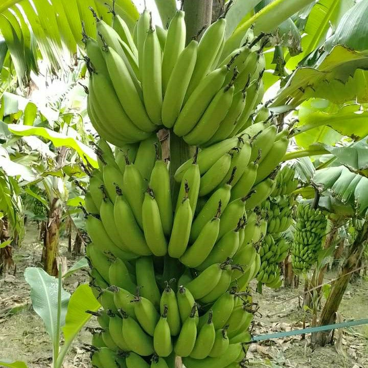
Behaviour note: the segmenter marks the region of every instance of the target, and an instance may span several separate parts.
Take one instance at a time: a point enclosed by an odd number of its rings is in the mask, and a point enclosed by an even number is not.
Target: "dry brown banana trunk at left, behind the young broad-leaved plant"
[[[53,276],[58,274],[56,257],[59,253],[60,225],[61,201],[58,198],[54,198],[50,205],[48,221],[45,224],[41,259],[43,269]]]

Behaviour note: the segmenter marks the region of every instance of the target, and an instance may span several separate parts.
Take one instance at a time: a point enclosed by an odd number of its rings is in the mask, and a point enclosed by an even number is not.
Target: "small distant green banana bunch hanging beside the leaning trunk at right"
[[[296,211],[291,261],[295,273],[307,272],[317,261],[326,234],[327,218],[310,204],[300,203]]]

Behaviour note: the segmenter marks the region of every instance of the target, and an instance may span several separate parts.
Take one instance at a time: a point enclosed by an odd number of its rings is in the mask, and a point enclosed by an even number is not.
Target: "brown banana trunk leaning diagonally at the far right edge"
[[[368,221],[365,221],[362,229],[359,231],[354,243],[349,249],[349,255],[344,262],[337,280],[332,284],[332,290],[327,298],[327,302],[319,318],[319,326],[325,326],[335,323],[336,312],[340,306],[342,297],[349,284],[353,271],[362,256],[366,237],[368,235]],[[331,339],[331,332],[318,332],[312,334],[312,342],[320,346],[325,346]]]

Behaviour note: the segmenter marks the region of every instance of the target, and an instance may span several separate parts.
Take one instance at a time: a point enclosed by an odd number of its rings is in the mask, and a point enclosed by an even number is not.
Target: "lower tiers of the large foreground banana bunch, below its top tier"
[[[275,185],[271,172],[256,185],[262,191],[250,184],[232,198],[234,181],[258,165],[248,163],[250,140],[197,151],[175,175],[176,203],[155,134],[115,153],[100,140],[100,169],[91,171],[85,196],[90,285],[103,306],[102,330],[93,338],[96,366],[105,367],[99,359],[107,356],[128,368],[166,366],[173,354],[188,368],[211,366],[220,356],[228,364],[244,358],[240,342],[253,314],[243,294],[261,267],[254,244],[267,231],[254,206]]]

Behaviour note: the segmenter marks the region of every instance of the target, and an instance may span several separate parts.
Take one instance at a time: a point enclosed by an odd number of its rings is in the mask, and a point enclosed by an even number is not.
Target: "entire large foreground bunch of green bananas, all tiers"
[[[287,131],[249,119],[263,96],[263,37],[250,29],[228,50],[220,18],[185,47],[182,11],[168,31],[144,11],[133,35],[118,15],[112,26],[95,18],[96,40],[84,36],[88,114],[102,138],[99,169],[86,168],[90,286],[103,307],[93,364],[171,368],[180,356],[187,368],[238,366],[255,312],[246,290],[262,264],[255,244],[267,232],[255,209],[288,146]],[[175,182],[163,127],[196,146]]]

